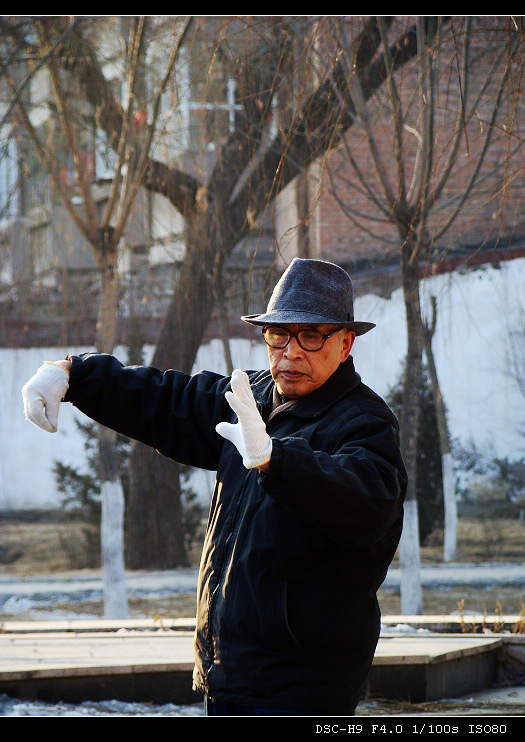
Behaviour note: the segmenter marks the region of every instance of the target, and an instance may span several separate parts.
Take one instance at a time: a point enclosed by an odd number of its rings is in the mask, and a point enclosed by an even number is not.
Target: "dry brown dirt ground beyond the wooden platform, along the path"
[[[421,548],[423,564],[442,561],[440,534]],[[525,523],[518,520],[461,519],[458,526],[457,562],[523,562],[525,563]],[[48,516],[34,522],[0,520],[0,573],[11,576],[34,576],[97,568],[98,536],[85,524],[63,521]],[[200,547],[192,553],[197,566]],[[395,560],[394,564],[397,562]],[[195,613],[194,595],[169,598],[130,600],[131,617],[160,615],[170,618],[189,617]],[[400,613],[400,596],[396,590],[381,588],[379,603],[384,615]],[[451,589],[423,591],[423,612],[433,615],[475,612],[477,614],[523,614],[525,588],[505,585],[473,588],[469,585]],[[69,610],[83,615],[100,616],[100,602],[57,606],[54,611]],[[0,609],[0,619],[21,619]],[[29,617],[29,616],[28,616]]]

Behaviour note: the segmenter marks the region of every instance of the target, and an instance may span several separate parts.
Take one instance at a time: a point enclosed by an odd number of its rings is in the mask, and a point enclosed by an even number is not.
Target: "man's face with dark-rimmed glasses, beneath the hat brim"
[[[328,334],[336,325],[282,325],[285,329],[298,332],[302,329],[315,329]],[[297,338],[291,337],[286,348],[280,350],[268,346],[270,371],[280,394],[290,399],[299,399],[319,389],[346,361],[355,333],[341,330],[325,341],[321,350],[303,350]]]

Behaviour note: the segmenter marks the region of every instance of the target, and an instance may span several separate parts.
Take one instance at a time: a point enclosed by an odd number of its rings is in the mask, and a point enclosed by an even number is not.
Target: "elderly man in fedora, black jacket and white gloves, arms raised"
[[[397,421],[365,386],[339,266],[295,259],[262,328],[269,371],[231,378],[44,363],[26,416],[61,400],[176,461],[217,472],[198,584],[194,688],[209,715],[353,714],[380,630],[377,590],[402,528]]]

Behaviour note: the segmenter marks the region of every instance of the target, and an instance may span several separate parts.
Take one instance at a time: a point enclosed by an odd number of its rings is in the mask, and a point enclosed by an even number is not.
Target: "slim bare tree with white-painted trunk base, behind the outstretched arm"
[[[145,56],[147,19],[132,18],[129,23],[129,38],[123,39],[127,47],[124,65],[127,98],[122,108],[122,126],[119,129],[118,141],[115,142],[114,173],[101,208],[81,156],[81,138],[86,122],[78,104],[78,97],[75,95],[78,91],[75,90],[75,81],[62,74],[59,63],[65,53],[63,45],[74,32],[75,26],[76,21],[73,21],[68,31],[62,34],[58,41],[56,39],[52,41],[49,24],[37,20],[33,26],[36,37],[31,54],[33,59],[38,60],[38,67],[48,71],[56,118],[67,153],[73,162],[74,180],[78,186],[80,199],[73,199],[76,191],[72,191],[61,180],[56,153],[46,146],[32,123],[27,99],[21,94],[22,89],[29,85],[28,78],[21,80],[17,85],[9,64],[4,66],[3,72],[4,79],[11,89],[16,115],[23,124],[41,165],[48,172],[53,187],[60,195],[61,203],[73,224],[91,246],[101,281],[96,347],[100,352],[111,353],[117,337],[118,258],[123,236],[148,165],[160,101],[173,74],[182,36],[174,39],[163,79],[155,91],[151,121],[144,130],[142,127],[134,127],[133,120],[137,111],[137,101],[140,99],[140,67]],[[8,30],[18,39],[20,32],[25,31],[18,24],[13,24]],[[116,434],[104,426],[98,426],[98,451],[102,491],[101,549],[105,614],[109,618],[122,618],[127,615],[123,556],[124,495],[118,474]]]

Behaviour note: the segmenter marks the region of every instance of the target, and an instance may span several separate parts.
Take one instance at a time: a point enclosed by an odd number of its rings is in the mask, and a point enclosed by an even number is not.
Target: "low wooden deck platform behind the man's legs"
[[[392,625],[401,621],[392,617]],[[382,635],[368,692],[420,702],[482,690],[506,636]],[[193,622],[184,619],[7,622],[0,626],[0,693],[50,702],[196,703],[192,645]]]

